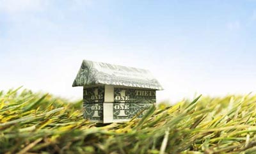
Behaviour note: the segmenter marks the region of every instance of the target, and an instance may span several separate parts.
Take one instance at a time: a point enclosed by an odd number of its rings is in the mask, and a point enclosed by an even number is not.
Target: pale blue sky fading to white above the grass
[[[256,90],[256,1],[0,0],[0,89],[81,98],[83,59],[150,70],[158,100]]]

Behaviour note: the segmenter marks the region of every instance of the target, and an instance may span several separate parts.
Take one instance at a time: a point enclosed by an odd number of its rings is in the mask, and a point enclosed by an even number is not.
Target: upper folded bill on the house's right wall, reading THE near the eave
[[[154,104],[156,103],[156,90],[115,88],[114,102],[115,103]]]

